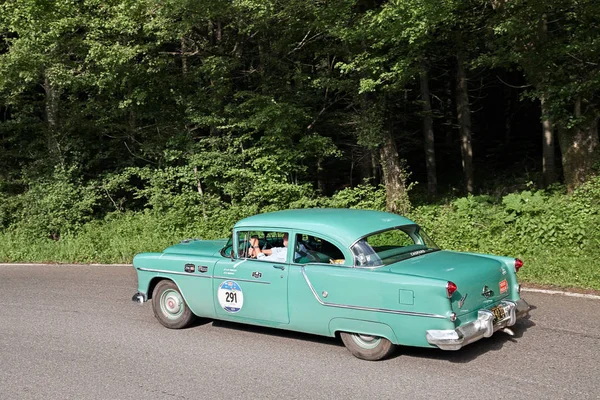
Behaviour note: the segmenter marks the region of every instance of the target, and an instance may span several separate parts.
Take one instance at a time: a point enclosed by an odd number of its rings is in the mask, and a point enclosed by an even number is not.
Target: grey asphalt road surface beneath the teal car
[[[527,293],[515,336],[361,361],[335,339],[163,328],[132,267],[0,266],[0,399],[600,399],[600,301]]]

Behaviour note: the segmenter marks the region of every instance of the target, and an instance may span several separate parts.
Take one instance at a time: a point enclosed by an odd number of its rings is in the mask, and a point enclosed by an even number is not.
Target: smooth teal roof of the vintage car
[[[414,225],[408,218],[374,210],[347,208],[303,208],[275,211],[244,218],[235,224],[240,228],[296,229],[322,233],[350,246],[369,233],[396,226]]]

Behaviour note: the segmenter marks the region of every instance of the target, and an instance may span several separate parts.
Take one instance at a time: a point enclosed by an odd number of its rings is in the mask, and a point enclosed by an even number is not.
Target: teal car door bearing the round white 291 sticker
[[[240,253],[239,248],[235,251]],[[217,316],[230,320],[289,323],[289,260],[289,249],[284,262],[268,257],[219,260],[213,277]]]

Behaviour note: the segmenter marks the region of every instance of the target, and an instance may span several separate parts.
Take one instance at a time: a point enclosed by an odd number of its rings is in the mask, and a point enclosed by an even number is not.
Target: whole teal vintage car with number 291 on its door
[[[461,347],[527,315],[515,258],[440,250],[385,212],[301,209],[239,221],[232,237],[184,240],[133,265],[167,328],[195,317],[339,335],[356,357],[396,345]]]

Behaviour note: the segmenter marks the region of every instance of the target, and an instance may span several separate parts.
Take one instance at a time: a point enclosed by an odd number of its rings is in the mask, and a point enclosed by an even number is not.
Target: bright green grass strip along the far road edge
[[[201,230],[201,229],[200,229]],[[438,232],[440,235],[441,232]],[[0,233],[0,261],[52,263],[131,263],[141,252],[162,251],[181,239],[195,237],[188,229],[173,229],[158,216],[147,213],[128,214],[109,221],[95,221],[76,235],[60,240],[29,237],[24,232]],[[210,237],[206,237],[210,238]],[[495,253],[523,259],[519,272],[521,282],[555,287],[577,287],[600,290],[600,254],[566,248],[529,247],[502,249],[502,240],[488,237],[479,248],[469,241],[467,246],[445,243],[442,248]],[[493,243],[494,246],[486,245]],[[490,251],[495,247],[495,251]],[[518,247],[518,246],[517,246]]]

